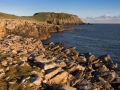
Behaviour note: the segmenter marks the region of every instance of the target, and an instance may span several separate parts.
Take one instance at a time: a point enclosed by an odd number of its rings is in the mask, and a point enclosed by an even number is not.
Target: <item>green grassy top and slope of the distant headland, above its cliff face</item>
[[[32,20],[32,21],[39,21],[45,22],[48,19],[80,19],[77,15],[67,14],[67,13],[55,13],[55,12],[39,12],[35,13],[33,16],[16,16],[12,14],[6,14],[0,12],[0,18],[2,19],[22,19],[22,20]],[[82,20],[80,19],[82,22]]]

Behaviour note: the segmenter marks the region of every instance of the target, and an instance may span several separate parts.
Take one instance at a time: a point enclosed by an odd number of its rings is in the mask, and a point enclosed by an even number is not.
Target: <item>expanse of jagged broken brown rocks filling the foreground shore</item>
[[[0,90],[5,89],[119,90],[120,69],[109,55],[8,35],[0,39]]]

